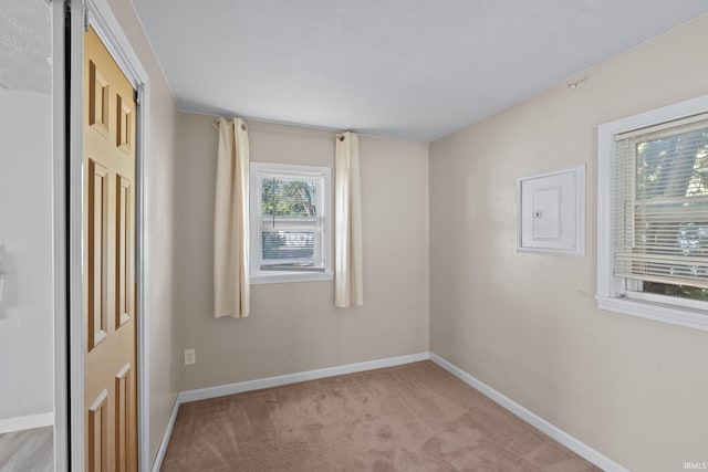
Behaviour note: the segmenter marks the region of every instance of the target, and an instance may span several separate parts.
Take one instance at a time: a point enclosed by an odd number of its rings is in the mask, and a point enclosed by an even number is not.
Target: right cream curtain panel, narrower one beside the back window
[[[364,304],[358,136],[336,136],[334,162],[334,305]]]

